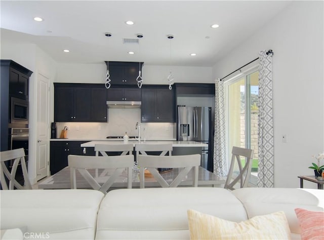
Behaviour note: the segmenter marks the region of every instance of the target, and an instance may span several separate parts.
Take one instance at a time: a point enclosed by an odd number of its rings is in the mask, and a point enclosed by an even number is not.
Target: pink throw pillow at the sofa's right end
[[[295,209],[302,240],[324,240],[324,212]]]

